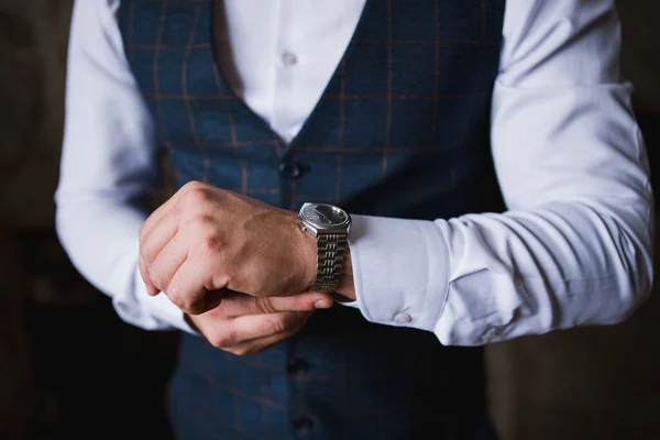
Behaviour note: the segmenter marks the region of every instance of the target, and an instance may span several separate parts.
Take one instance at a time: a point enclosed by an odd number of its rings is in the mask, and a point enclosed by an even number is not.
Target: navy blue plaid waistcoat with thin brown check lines
[[[504,0],[369,0],[300,133],[285,144],[215,63],[212,0],[123,0],[128,59],[176,187],[208,182],[284,208],[449,218],[497,210],[490,109]],[[179,438],[491,438],[482,352],[317,312],[239,358],[183,336],[170,387]]]

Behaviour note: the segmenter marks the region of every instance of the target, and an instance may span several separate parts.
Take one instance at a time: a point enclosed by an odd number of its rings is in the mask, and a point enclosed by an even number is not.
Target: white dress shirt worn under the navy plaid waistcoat
[[[378,0],[372,0],[378,1]],[[154,189],[152,120],[124,56],[119,0],[75,2],[57,231],[128,322],[191,331],[146,295],[133,200]],[[508,0],[492,109],[509,209],[416,221],[354,216],[359,307],[443,344],[475,345],[626,318],[652,279],[646,153],[619,76],[613,0]],[[231,78],[283,139],[309,117],[364,0],[226,0]],[[314,200],[310,200],[314,201]]]

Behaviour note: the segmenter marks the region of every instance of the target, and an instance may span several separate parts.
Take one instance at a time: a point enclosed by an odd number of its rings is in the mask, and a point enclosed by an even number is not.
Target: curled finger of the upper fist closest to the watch
[[[205,307],[205,295],[210,290],[211,268],[207,264],[186,258],[172,276],[165,295],[182,311],[188,315],[200,315],[209,310]],[[216,286],[222,287],[222,286]]]

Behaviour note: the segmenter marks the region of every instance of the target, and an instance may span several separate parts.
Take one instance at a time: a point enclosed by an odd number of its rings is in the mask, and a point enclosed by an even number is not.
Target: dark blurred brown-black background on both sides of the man
[[[175,334],[122,323],[54,232],[70,9],[0,0],[0,439],[165,440]],[[660,1],[622,0],[619,12],[622,64],[654,160]],[[502,438],[660,439],[659,296],[620,326],[488,346]]]

